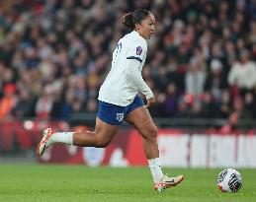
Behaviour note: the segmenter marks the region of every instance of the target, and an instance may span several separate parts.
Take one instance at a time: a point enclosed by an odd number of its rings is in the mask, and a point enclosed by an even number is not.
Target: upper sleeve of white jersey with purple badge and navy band
[[[134,41],[128,47],[127,59],[135,59],[141,63],[146,51],[147,46],[143,41]]]

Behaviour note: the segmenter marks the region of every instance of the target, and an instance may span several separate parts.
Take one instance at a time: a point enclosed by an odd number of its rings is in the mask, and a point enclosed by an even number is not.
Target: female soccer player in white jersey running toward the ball
[[[54,143],[82,147],[106,147],[126,120],[142,136],[143,148],[154,181],[154,189],[162,191],[176,186],[183,175],[164,175],[159,160],[157,128],[147,110],[155,102],[150,88],[143,81],[141,70],[145,62],[147,43],[155,31],[155,18],[146,10],[136,10],[123,17],[123,24],[132,32],[120,39],[113,52],[112,68],[99,92],[99,109],[94,132],[53,132],[43,130],[38,155]],[[147,104],[137,95],[141,92]]]

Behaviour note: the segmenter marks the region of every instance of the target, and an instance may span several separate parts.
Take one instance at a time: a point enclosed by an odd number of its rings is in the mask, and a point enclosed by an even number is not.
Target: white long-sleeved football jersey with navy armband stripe
[[[99,101],[127,106],[133,101],[138,91],[144,94],[147,99],[153,97],[151,90],[141,77],[146,52],[146,40],[135,31],[126,34],[119,40],[113,52],[111,71],[99,92]],[[131,60],[135,63],[131,63]],[[133,71],[136,75],[130,73],[132,79],[129,79],[128,74],[134,68],[133,64],[137,66],[137,69]],[[136,78],[135,82],[132,82],[133,78]]]

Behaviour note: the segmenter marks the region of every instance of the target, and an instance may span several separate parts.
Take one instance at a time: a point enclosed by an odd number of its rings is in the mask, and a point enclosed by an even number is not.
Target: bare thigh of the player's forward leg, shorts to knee
[[[130,111],[126,117],[126,121],[130,123],[145,139],[155,138],[157,128],[151,118],[149,111],[140,106]]]

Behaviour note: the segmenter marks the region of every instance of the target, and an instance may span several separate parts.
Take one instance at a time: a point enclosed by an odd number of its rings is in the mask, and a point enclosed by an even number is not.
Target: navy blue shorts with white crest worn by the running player
[[[127,106],[119,106],[104,101],[99,101],[99,109],[97,116],[104,122],[111,125],[122,125],[128,112],[137,107],[144,105],[143,101],[138,95]]]

